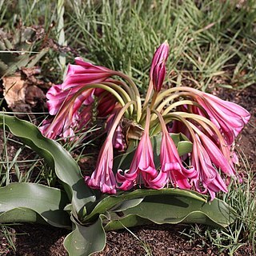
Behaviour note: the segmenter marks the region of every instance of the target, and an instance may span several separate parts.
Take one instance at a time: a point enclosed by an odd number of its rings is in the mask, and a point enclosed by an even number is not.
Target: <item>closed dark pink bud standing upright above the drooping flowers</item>
[[[166,76],[166,60],[169,54],[169,45],[163,42],[154,53],[150,68],[150,80],[153,82],[154,90],[160,91]]]

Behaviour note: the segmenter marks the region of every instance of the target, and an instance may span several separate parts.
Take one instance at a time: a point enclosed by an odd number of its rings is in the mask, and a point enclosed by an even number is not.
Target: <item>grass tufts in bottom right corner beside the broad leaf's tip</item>
[[[246,159],[243,157],[243,159]],[[246,246],[250,252],[256,254],[256,198],[252,190],[255,182],[254,171],[246,160],[243,160],[241,173],[243,181],[233,180],[230,183],[230,190],[222,195],[222,199],[236,210],[237,218],[226,230],[216,230],[206,226],[190,226],[182,234],[190,238],[191,242],[198,239],[201,246],[217,248],[218,253],[236,255],[236,252]]]

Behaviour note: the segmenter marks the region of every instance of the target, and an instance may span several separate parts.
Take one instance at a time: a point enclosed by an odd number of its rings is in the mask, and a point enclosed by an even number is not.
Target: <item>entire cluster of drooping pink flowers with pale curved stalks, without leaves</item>
[[[235,176],[234,139],[249,122],[250,114],[232,102],[187,86],[162,90],[169,45],[154,54],[146,98],[134,81],[122,72],[94,66],[81,58],[70,65],[62,85],[50,88],[46,97],[50,115],[41,127],[48,138],[75,138],[86,130],[97,109],[105,119],[106,140],[98,154],[88,186],[103,193],[130,190],[134,186],[161,189],[174,186],[210,194],[227,191],[228,177]],[[97,104],[95,104],[97,102]],[[143,103],[143,104],[142,104]],[[159,166],[150,137],[161,134]],[[190,152],[180,156],[171,134],[184,134]],[[114,153],[138,142],[128,170],[113,170]]]

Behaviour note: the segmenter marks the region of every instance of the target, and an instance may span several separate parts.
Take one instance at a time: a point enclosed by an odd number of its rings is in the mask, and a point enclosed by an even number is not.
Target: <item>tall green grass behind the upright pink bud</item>
[[[70,6],[74,13],[66,23],[66,34],[71,35],[67,36],[68,45],[93,62],[132,73],[142,92],[151,53],[164,40],[170,44],[170,82],[188,80],[202,90],[208,90],[219,76],[226,77],[232,86],[253,82],[247,60],[248,54],[250,62],[255,57],[251,53],[255,43],[254,1],[240,7],[230,1],[191,0],[181,4],[168,0],[70,1]],[[243,83],[239,70],[246,73]],[[221,86],[226,84],[224,80]]]

